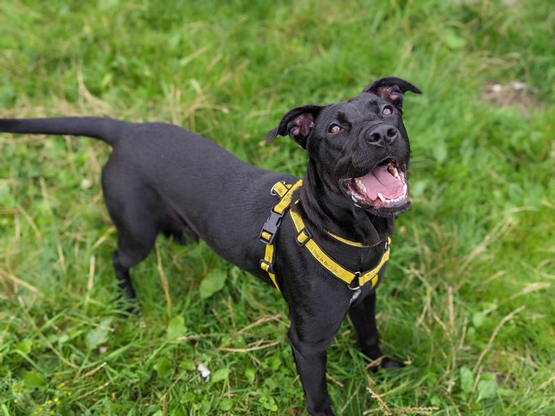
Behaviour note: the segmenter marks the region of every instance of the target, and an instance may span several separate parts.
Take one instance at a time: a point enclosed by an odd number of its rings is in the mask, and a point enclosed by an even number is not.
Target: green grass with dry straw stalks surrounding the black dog
[[[284,112],[407,78],[424,92],[404,114],[413,205],[378,309],[384,352],[410,364],[368,374],[345,322],[334,409],[553,415],[553,21],[541,0],[2,1],[0,116],[169,121],[302,175],[291,140],[262,144]],[[484,98],[513,81],[531,90]],[[305,413],[276,291],[204,243],[161,238],[133,270],[142,313],[122,317],[99,187],[109,148],[1,135],[0,150],[0,415]]]

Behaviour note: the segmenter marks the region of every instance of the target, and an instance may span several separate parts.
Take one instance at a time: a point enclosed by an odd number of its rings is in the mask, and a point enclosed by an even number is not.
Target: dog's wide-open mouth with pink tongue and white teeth
[[[410,203],[407,175],[394,159],[385,159],[366,175],[347,179],[344,184],[360,207],[398,211]]]

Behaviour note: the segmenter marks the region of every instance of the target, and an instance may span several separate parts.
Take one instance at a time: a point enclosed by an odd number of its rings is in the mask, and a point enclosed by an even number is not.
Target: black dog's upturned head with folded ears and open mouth
[[[421,94],[407,81],[388,77],[349,101],[294,108],[266,140],[289,135],[332,190],[377,216],[396,216],[410,205],[410,148],[402,121],[407,91]]]

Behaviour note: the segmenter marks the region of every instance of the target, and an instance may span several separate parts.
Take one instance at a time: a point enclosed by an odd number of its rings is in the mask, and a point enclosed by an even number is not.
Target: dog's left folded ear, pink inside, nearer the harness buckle
[[[303,149],[306,148],[307,137],[314,128],[316,118],[323,108],[322,105],[303,105],[289,110],[282,117],[280,125],[268,132],[266,143],[270,143],[278,135],[289,135]]]

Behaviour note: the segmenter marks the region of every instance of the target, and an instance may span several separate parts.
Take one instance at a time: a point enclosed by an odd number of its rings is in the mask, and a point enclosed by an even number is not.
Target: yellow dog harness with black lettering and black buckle
[[[270,216],[268,217],[268,220],[266,220],[266,223],[264,223],[264,225],[262,226],[262,231],[260,232],[259,239],[260,241],[262,241],[262,243],[266,244],[264,259],[260,259],[260,268],[268,273],[271,281],[273,281],[273,284],[276,288],[278,288],[279,291],[280,287],[278,286],[278,282],[275,280],[275,270],[273,268],[275,262],[274,242],[276,236],[278,235],[278,229],[280,227],[281,220],[289,210],[289,215],[291,216],[291,220],[293,220],[293,225],[295,225],[295,229],[298,233],[296,237],[296,243],[298,245],[307,248],[312,257],[314,257],[314,259],[316,259],[318,263],[320,263],[324,268],[332,273],[332,275],[345,281],[350,289],[356,290],[361,286],[364,286],[368,282],[370,282],[370,287],[374,288],[379,281],[379,270],[382,269],[386,261],[389,259],[389,244],[391,243],[391,239],[387,239],[382,259],[379,260],[379,263],[377,264],[377,266],[375,266],[375,268],[372,268],[366,272],[352,272],[344,268],[343,266],[341,266],[341,264],[337,263],[334,259],[327,255],[324,250],[320,248],[318,243],[314,241],[314,239],[312,238],[312,234],[306,229],[302,217],[292,209],[289,209],[289,207],[291,207],[293,192],[296,191],[296,189],[298,189],[301,185],[302,180],[298,180],[298,182],[293,185],[285,184],[284,182],[278,182],[271,189],[271,194],[279,196],[280,202],[278,202],[278,204],[270,210]],[[355,247],[368,247],[361,243],[357,243],[356,241],[343,239],[342,237],[336,236],[335,234],[332,234],[330,232],[327,232],[327,234],[332,236],[337,241],[341,241],[341,243],[345,243]],[[357,280],[355,281],[355,279]],[[355,284],[357,284],[357,286],[351,286],[353,281],[355,281]]]

